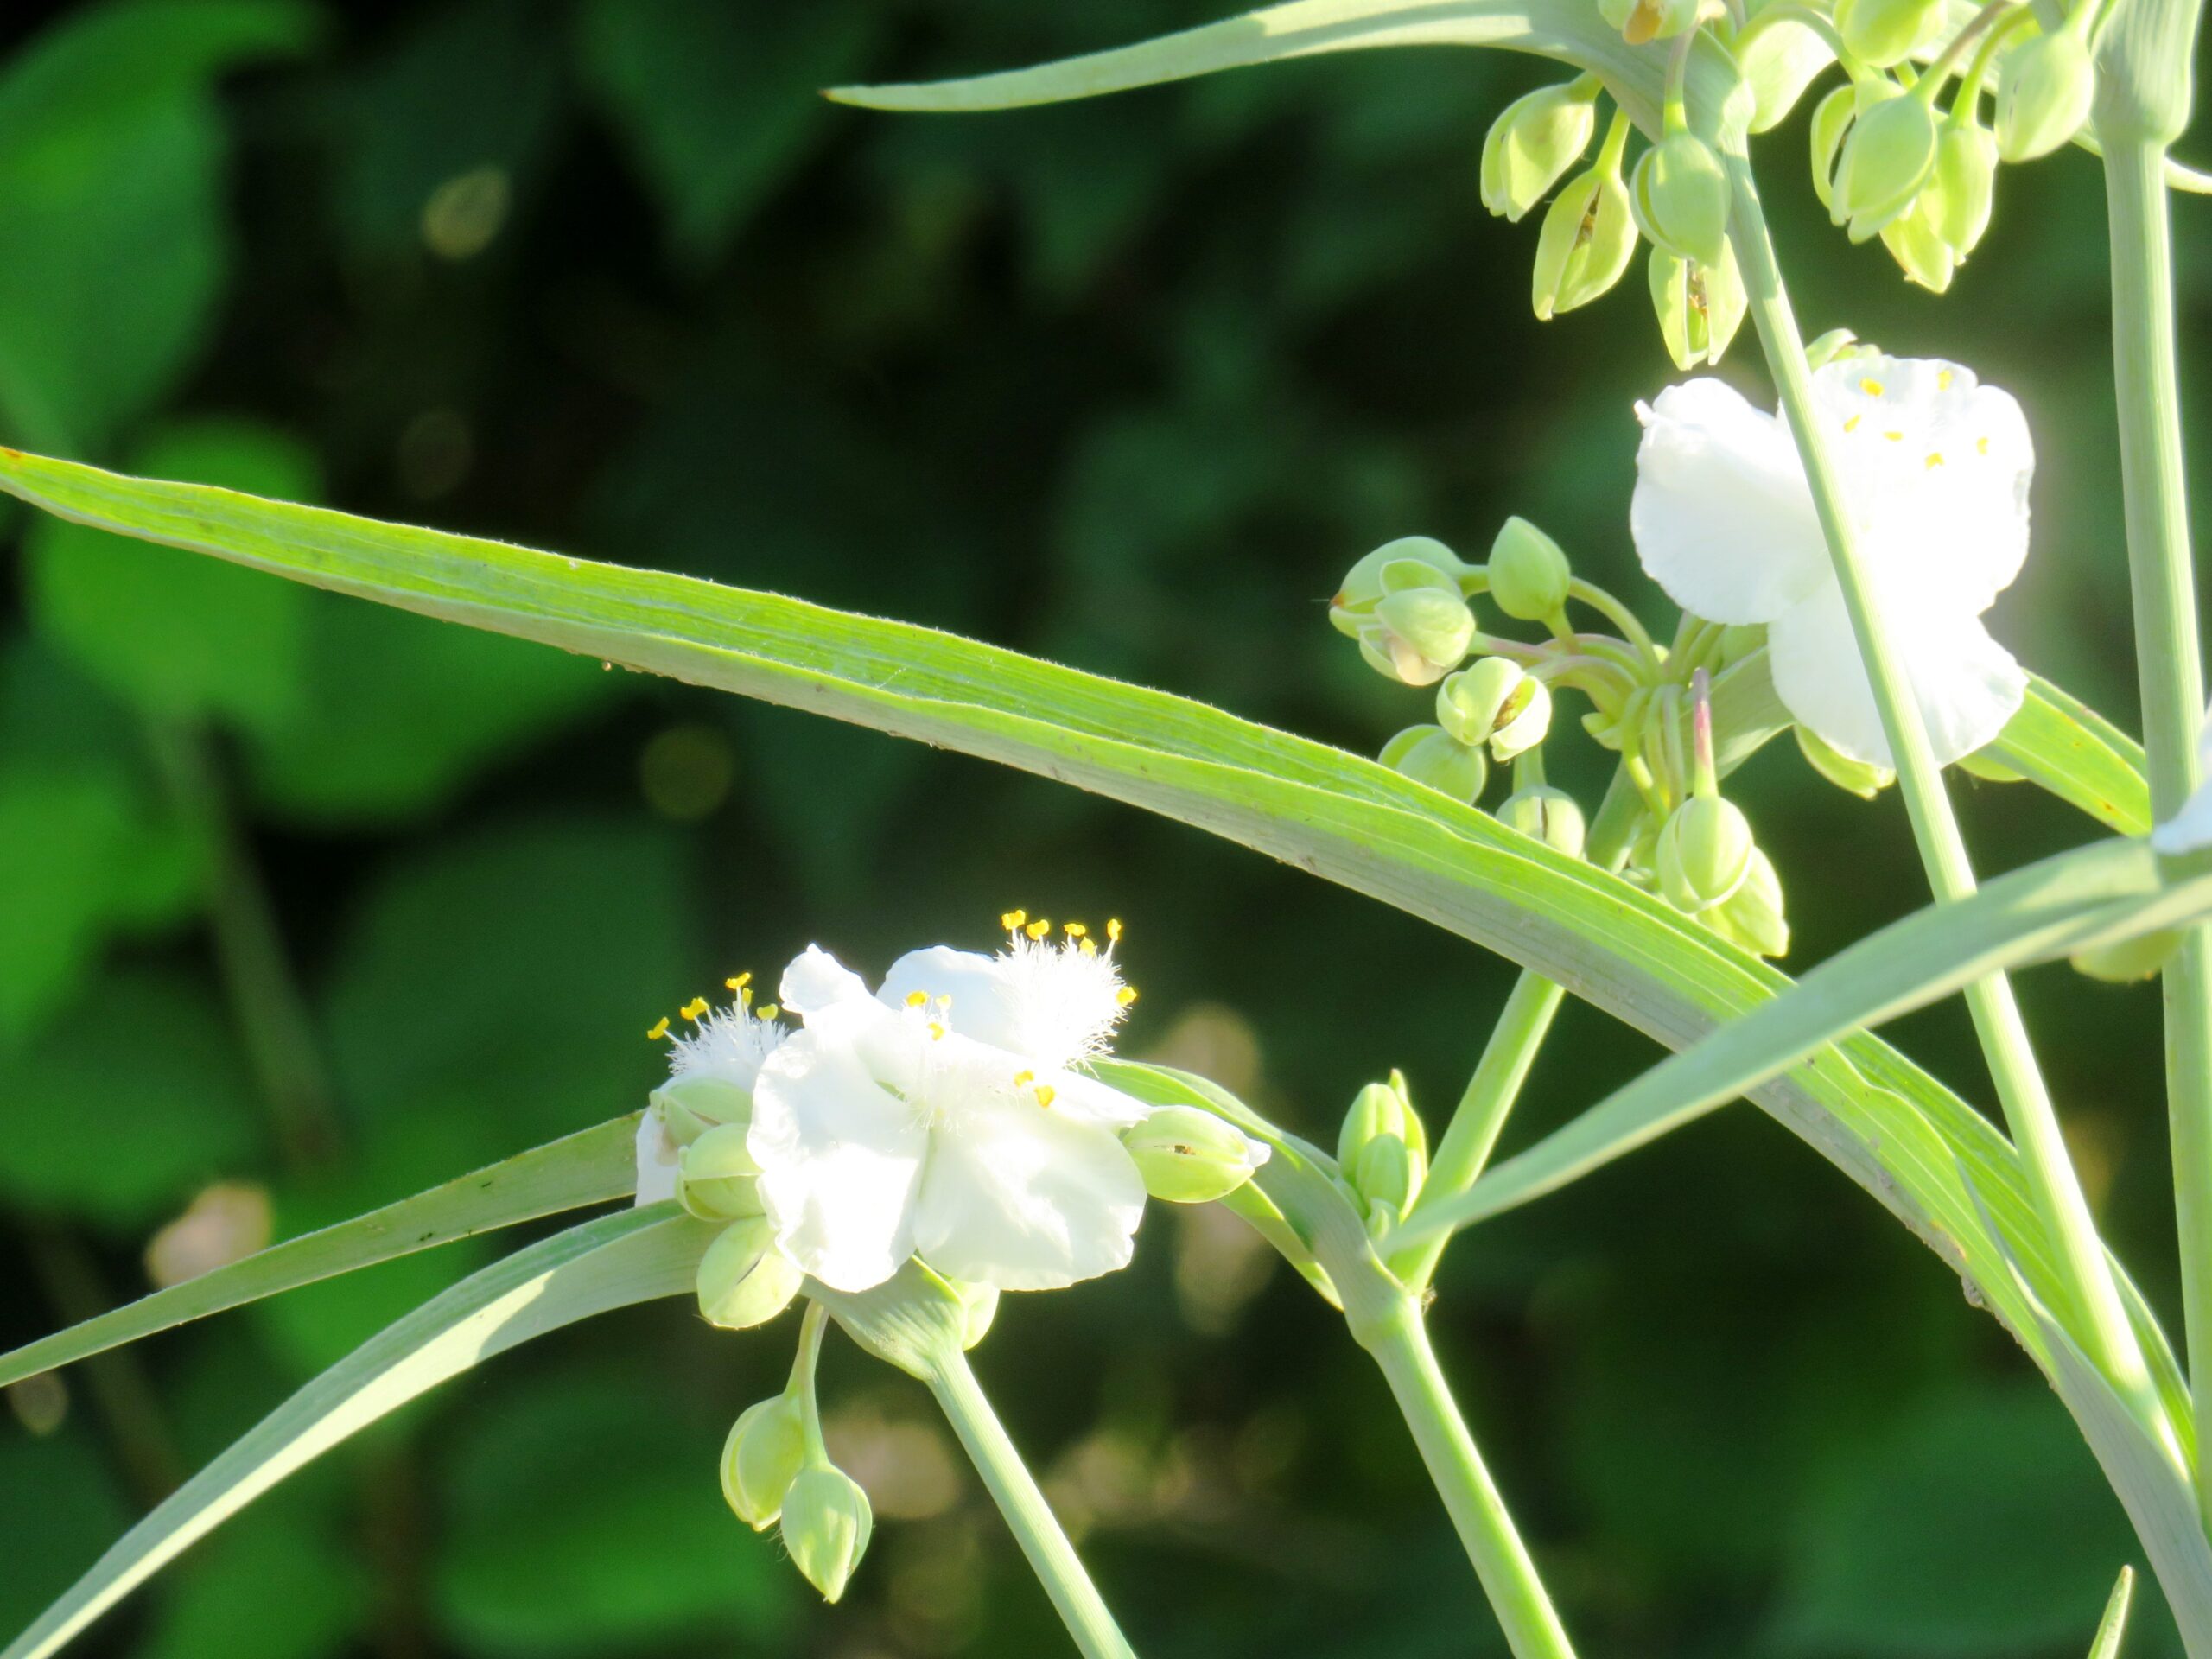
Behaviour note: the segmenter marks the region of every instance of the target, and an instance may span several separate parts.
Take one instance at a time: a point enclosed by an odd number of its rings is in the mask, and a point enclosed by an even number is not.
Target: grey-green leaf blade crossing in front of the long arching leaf
[[[1413,1243],[1588,1175],[1725,1106],[1854,1026],[1876,1026],[2024,962],[2084,942],[2172,927],[2212,909],[2212,874],[2166,885],[2157,854],[2108,841],[2000,876],[1971,898],[1927,905],[1832,956],[1790,991],[1615,1091],[1566,1128],[1416,1208]]]

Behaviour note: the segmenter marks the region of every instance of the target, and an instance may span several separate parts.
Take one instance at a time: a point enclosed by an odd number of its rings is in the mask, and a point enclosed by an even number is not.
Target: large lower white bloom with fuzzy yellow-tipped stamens
[[[805,1029],[761,1066],[748,1150],[779,1248],[825,1285],[916,1254],[1000,1290],[1128,1263],[1144,1181],[1119,1130],[1148,1108],[1079,1066],[1133,993],[1110,947],[1024,920],[998,956],[911,951],[876,995],[821,949],[785,969]]]

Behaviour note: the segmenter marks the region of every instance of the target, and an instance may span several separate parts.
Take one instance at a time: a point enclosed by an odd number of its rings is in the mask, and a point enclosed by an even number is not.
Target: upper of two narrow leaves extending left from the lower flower
[[[316,1279],[431,1250],[542,1214],[580,1210],[628,1194],[635,1186],[637,1113],[566,1135],[551,1146],[493,1164],[489,1170],[387,1203],[334,1228],[288,1239],[243,1261],[215,1267],[181,1285],[71,1325],[13,1354],[0,1354],[0,1387],[73,1365],[122,1343],[166,1332],[228,1307],[276,1296]]]

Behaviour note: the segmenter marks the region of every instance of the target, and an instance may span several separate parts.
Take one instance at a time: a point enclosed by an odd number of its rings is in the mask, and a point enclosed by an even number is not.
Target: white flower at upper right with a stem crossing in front
[[[2028,422],[1969,369],[1874,354],[1818,369],[1812,405],[1936,761],[1971,754],[2026,695],[1980,615],[2028,553]],[[1628,522],[1644,568],[1708,622],[1767,624],[1792,717],[1856,761],[1893,765],[1787,422],[1710,378],[1637,416]]]

